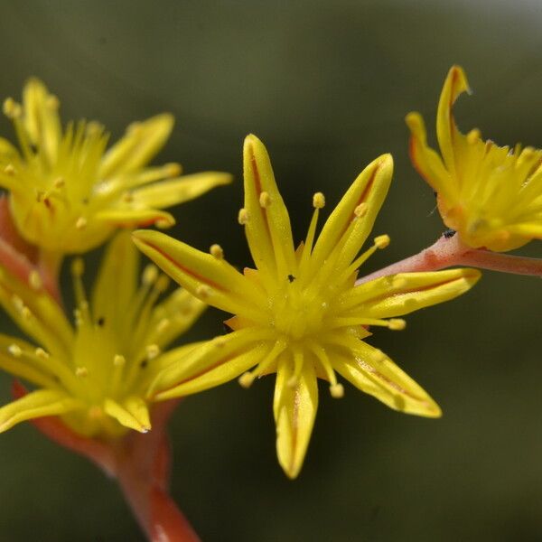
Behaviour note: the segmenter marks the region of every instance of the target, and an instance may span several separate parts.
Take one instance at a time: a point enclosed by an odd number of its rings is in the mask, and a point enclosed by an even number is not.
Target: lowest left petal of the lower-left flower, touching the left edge
[[[59,416],[80,407],[60,389],[38,389],[0,408],[0,433],[35,417]]]

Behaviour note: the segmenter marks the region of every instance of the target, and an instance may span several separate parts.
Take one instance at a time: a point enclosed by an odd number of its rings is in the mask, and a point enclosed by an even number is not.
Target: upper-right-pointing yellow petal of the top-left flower
[[[172,129],[173,116],[167,113],[128,126],[126,135],[107,151],[98,176],[107,179],[148,164],[164,146]]]

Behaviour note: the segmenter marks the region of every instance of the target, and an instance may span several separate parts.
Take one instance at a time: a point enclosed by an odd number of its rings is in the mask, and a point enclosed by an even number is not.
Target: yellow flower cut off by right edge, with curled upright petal
[[[501,252],[542,238],[542,151],[483,141],[477,128],[463,135],[452,107],[465,91],[470,89],[463,69],[453,66],[436,114],[442,159],[427,146],[422,117],[406,116],[412,162],[437,193],[446,226],[469,247]]]

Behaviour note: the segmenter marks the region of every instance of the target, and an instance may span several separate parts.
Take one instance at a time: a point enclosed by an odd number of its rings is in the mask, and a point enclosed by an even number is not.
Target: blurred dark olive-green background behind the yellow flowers
[[[539,0],[208,2],[4,0],[0,97],[36,75],[69,118],[98,118],[115,137],[172,111],[156,163],[229,171],[236,182],[174,210],[174,234],[219,242],[249,263],[237,211],[241,145],[266,143],[297,238],[313,192],[329,207],[383,152],[396,159],[375,229],[391,246],[374,270],[431,243],[435,199],[406,154],[403,117],[434,126],[453,63],[472,98],[466,130],[542,146]],[[13,136],[0,121],[2,135]],[[542,256],[540,243],[523,254]],[[97,255],[95,255],[97,257]],[[206,541],[500,541],[542,539],[540,280],[486,273],[463,298],[408,317],[373,344],[427,388],[441,420],[403,416],[354,388],[322,387],[304,470],[276,464],[274,378],[191,397],[173,418],[173,496]],[[69,287],[69,284],[66,284]],[[222,331],[209,311],[189,339]],[[6,332],[13,328],[3,323]],[[9,399],[9,378],[0,381]],[[0,436],[0,540],[142,540],[117,486],[22,425]]]

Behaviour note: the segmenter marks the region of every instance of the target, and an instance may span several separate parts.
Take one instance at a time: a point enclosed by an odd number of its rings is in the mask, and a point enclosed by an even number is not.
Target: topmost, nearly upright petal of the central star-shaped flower
[[[290,217],[276,187],[269,154],[256,135],[245,138],[243,164],[250,253],[258,269],[287,276],[295,269]]]

